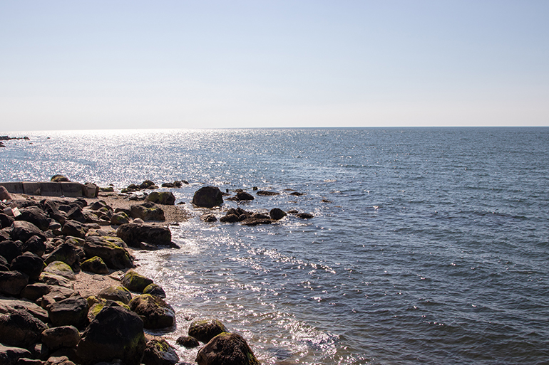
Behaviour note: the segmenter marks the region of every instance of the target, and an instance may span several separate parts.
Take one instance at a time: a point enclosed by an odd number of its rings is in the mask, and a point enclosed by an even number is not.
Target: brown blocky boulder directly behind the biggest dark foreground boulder
[[[70,297],[48,305],[48,316],[55,327],[74,326],[83,328],[88,324],[88,302],[83,297]]]

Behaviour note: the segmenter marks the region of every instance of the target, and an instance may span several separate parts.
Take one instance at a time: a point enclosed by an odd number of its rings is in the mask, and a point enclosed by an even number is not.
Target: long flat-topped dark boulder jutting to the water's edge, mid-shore
[[[137,223],[123,224],[116,230],[116,236],[131,247],[139,248],[142,242],[151,245],[171,245],[170,228],[146,226]]]

